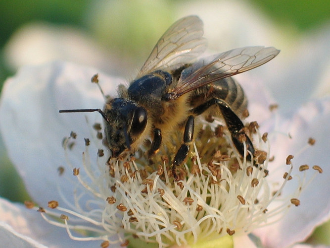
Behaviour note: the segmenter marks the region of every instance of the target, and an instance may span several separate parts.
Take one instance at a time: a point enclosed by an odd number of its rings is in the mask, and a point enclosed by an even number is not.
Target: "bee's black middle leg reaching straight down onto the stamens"
[[[186,159],[189,151],[189,143],[192,141],[193,138],[193,129],[194,129],[194,117],[189,116],[187,119],[185,132],[184,132],[184,143],[180,146],[177,154],[174,157],[172,163],[172,175],[175,182],[179,181],[178,175],[175,171],[176,167],[181,165],[184,160]]]

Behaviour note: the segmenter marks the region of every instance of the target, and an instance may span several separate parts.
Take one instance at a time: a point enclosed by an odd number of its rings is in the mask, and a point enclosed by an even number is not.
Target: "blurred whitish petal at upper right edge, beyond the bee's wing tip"
[[[278,47],[281,53],[273,60],[272,70],[262,76],[282,113],[292,113],[313,97],[330,93],[326,77],[330,66],[329,37],[330,28],[325,26],[297,37],[291,47]]]

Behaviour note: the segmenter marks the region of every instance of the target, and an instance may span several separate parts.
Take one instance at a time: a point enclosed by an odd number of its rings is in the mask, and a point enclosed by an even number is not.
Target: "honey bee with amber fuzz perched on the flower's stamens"
[[[171,133],[182,130],[183,142],[172,161],[172,176],[178,181],[176,167],[189,152],[195,119],[222,117],[234,145],[247,158],[253,144],[244,132],[243,112],[247,99],[241,86],[231,77],[253,69],[280,52],[273,47],[244,47],[197,60],[206,49],[203,23],[197,16],[176,21],[159,39],[130,86],[118,87],[118,97],[108,98],[101,109],[60,110],[99,112],[112,157],[124,151],[135,152],[151,139],[148,155],[160,149]]]

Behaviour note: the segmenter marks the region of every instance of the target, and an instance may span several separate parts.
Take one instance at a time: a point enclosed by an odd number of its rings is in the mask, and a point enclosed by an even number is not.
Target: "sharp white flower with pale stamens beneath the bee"
[[[224,166],[219,167],[221,168],[221,179],[229,184],[227,186],[225,184],[225,188],[221,184],[220,187],[217,184],[211,184],[208,189],[203,189],[208,185],[201,183],[203,180],[217,180],[217,177],[203,177],[199,174],[199,176],[189,175],[181,189],[178,185],[171,183],[171,179],[166,177],[167,174],[162,174],[163,178],[161,178],[157,175],[157,171],[150,172],[151,175],[148,174],[149,180],[145,180],[141,173],[136,173],[134,179],[131,179],[132,173],[136,170],[134,167],[139,166],[139,161],[136,162],[137,165],[130,164],[132,172],[127,166],[125,171],[122,162],[113,164],[110,161],[111,166],[114,167],[110,167],[109,174],[106,155],[97,156],[97,149],[102,148],[102,145],[101,140],[95,137],[96,131],[92,128],[94,123],[102,123],[100,115],[96,113],[88,113],[88,115],[58,113],[58,110],[63,108],[99,108],[103,105],[97,87],[89,82],[91,75],[95,73],[97,73],[95,69],[61,62],[39,67],[26,67],[6,82],[0,106],[2,136],[9,156],[22,175],[31,196],[45,208],[47,214],[54,214],[58,217],[63,214],[62,219],[69,216],[67,223],[72,235],[79,236],[79,239],[90,240],[80,242],[79,246],[84,243],[91,245],[95,242],[94,236],[100,240],[108,240],[110,244],[112,242],[117,245],[124,244],[125,237],[129,234],[149,241],[162,242],[164,246],[168,244],[192,245],[194,242],[214,239],[217,236],[216,232],[224,235],[233,234],[232,232],[235,231],[236,233],[232,237],[235,246],[239,247],[240,240],[246,240],[246,233],[263,225],[267,225],[267,227],[263,227],[255,235],[261,239],[264,245],[268,246],[267,238],[272,239],[272,235],[276,234],[272,227],[282,226],[282,229],[285,230],[290,226],[289,224],[296,223],[296,218],[301,212],[308,212],[310,215],[306,216],[304,224],[298,223],[299,225],[294,227],[296,230],[309,225],[308,232],[310,232],[316,224],[328,218],[329,191],[327,191],[325,180],[327,173],[317,175],[317,180],[312,181],[311,185],[305,189],[306,182],[309,182],[310,177],[315,176],[315,173],[311,171],[299,173],[296,170],[303,163],[309,163],[311,166],[314,165],[312,164],[314,162],[323,163],[322,160],[313,156],[313,150],[321,152],[322,149],[327,149],[323,148],[323,146],[327,146],[326,129],[321,125],[315,130],[314,119],[318,119],[319,124],[326,124],[329,121],[329,99],[310,103],[287,123],[281,117],[277,117],[280,125],[273,133],[270,133],[271,151],[268,153],[270,156],[275,156],[275,161],[270,162],[269,165],[263,165],[263,169],[268,166],[269,176],[264,177],[265,172],[253,170],[253,177],[249,178],[246,175],[248,163],[240,164],[243,170],[232,173],[226,169],[228,163],[222,161]],[[103,90],[112,94],[116,85],[122,83],[120,79],[109,78],[103,74],[99,74],[99,78],[102,87],[104,86]],[[306,111],[308,115],[304,113]],[[253,112],[253,109],[250,112]],[[305,126],[301,126],[302,121]],[[292,140],[286,134],[278,133],[279,129],[289,131]],[[72,134],[70,138],[62,140],[62,137],[68,136],[71,131],[74,131],[77,137],[74,139]],[[314,146],[307,144],[310,135],[316,139]],[[89,146],[85,145],[84,138],[90,138]],[[64,150],[60,145],[61,142],[64,144]],[[267,151],[267,143],[259,138],[255,138],[255,142],[256,147]],[[308,147],[308,149],[303,150],[304,147]],[[299,154],[300,150],[301,154]],[[84,152],[83,155],[82,152]],[[201,151],[198,152],[201,153]],[[283,171],[290,171],[290,166],[285,165],[285,158],[291,152],[295,156],[292,159],[293,180],[285,184],[281,197],[271,200],[273,189],[279,189],[284,182]],[[106,154],[106,150],[104,153]],[[324,151],[323,154],[326,152]],[[321,155],[322,153],[318,157]],[[235,157],[235,153],[232,156]],[[202,166],[204,172],[210,173],[210,167],[199,163],[197,165],[199,169]],[[63,168],[64,172],[60,173],[59,168]],[[78,176],[72,175],[71,170],[74,168],[80,168]],[[191,168],[184,167],[184,170],[189,172]],[[226,177],[228,178],[226,179]],[[259,183],[258,185],[251,185],[253,178],[258,179],[255,181]],[[221,182],[219,178],[218,180]],[[325,182],[322,182],[323,180]],[[279,182],[280,185],[272,185],[273,181]],[[114,185],[116,189],[111,187]],[[150,188],[145,190],[147,185]],[[304,189],[301,196],[300,187]],[[198,190],[196,190],[197,188]],[[310,192],[307,195],[308,191]],[[180,195],[179,192],[182,194]],[[238,199],[237,195],[242,198]],[[251,202],[251,199],[255,200],[257,197],[259,203]],[[313,202],[323,201],[323,203],[313,204],[311,202],[308,204],[305,199],[310,197],[313,197]],[[290,203],[291,198],[298,198],[301,202],[300,206],[294,207]],[[114,200],[116,203],[113,202]],[[58,203],[58,207],[47,208],[46,205],[49,201],[56,201],[49,204]],[[244,201],[246,203],[242,204]],[[269,206],[267,202],[270,203]],[[289,205],[293,207],[287,208],[286,206]],[[308,211],[306,207],[308,207]],[[244,211],[247,208],[249,210]],[[285,209],[289,212],[285,218],[281,218],[282,214],[286,212]],[[7,211],[9,211],[8,207]],[[198,216],[199,211],[205,211],[203,217]],[[51,217],[43,215],[48,222],[54,222]],[[273,215],[275,219],[280,218],[280,221],[268,226],[267,222],[273,220]],[[34,218],[38,220],[37,216]],[[40,218],[39,216],[38,224]],[[291,221],[286,223],[290,219]],[[1,219],[1,221],[10,223],[14,229],[17,228],[17,232],[35,238],[47,246],[63,246],[60,241],[55,243],[52,235],[38,237],[34,231],[34,222],[27,223],[30,230],[23,230],[20,228],[22,224],[13,223],[10,218]],[[138,222],[136,223],[136,221]],[[55,222],[62,223],[62,221]],[[45,221],[42,226],[45,227],[46,223]],[[162,225],[163,228],[160,228]],[[221,227],[226,230],[221,230]],[[53,228],[57,230],[53,226],[47,227],[45,230]],[[80,229],[80,232],[74,232],[75,229]],[[273,233],[265,234],[266,229],[272,230]],[[299,235],[299,232],[302,231],[292,231],[283,241],[289,238],[293,240],[282,245],[302,240],[305,237]],[[285,235],[285,233],[279,234]],[[101,241],[96,242],[98,245],[100,243]],[[271,243],[271,245],[273,244]]]

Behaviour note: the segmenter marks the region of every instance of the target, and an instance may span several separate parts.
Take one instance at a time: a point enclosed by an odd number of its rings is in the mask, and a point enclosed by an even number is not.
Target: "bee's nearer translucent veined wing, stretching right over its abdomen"
[[[203,85],[258,67],[279,53],[280,50],[274,47],[244,47],[201,59],[182,71],[172,97],[177,98]]]

